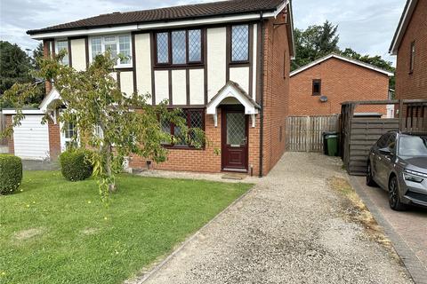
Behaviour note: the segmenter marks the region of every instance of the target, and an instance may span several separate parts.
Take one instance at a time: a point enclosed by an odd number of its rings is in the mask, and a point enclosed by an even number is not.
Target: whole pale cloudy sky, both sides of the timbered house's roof
[[[262,0],[260,0],[262,1]],[[203,0],[0,0],[0,40],[18,43],[22,49],[35,49],[37,41],[28,29],[80,20],[109,12],[137,11]],[[205,1],[208,2],[208,1]],[[381,55],[395,62],[388,53],[406,0],[293,0],[294,27],[307,28],[325,20],[338,25],[339,46],[361,54]]]

